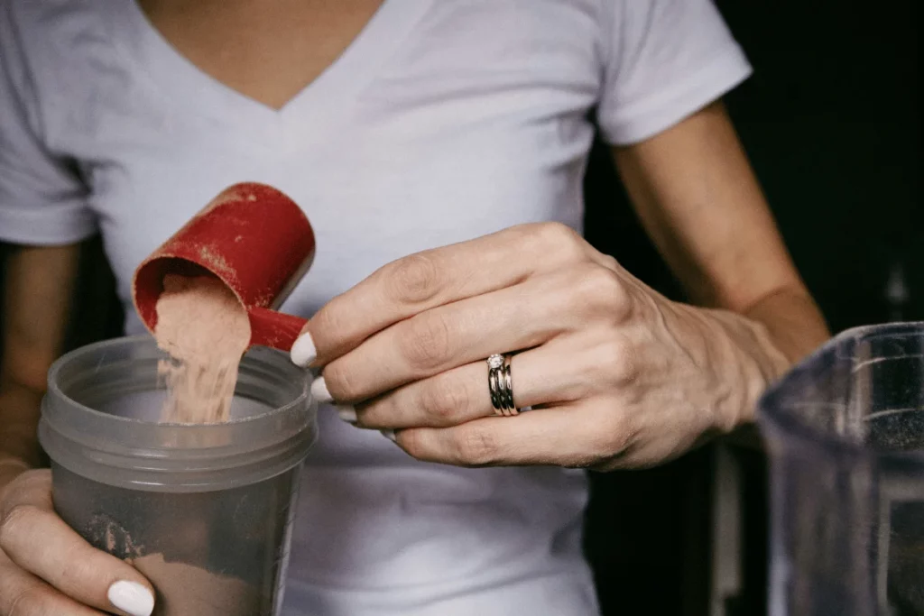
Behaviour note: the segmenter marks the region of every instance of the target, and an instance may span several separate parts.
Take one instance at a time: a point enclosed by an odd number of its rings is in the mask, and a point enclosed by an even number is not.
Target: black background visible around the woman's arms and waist
[[[756,70],[728,97],[729,109],[833,331],[924,320],[918,0],[718,4]],[[601,144],[586,184],[590,241],[681,297]],[[87,248],[81,275],[72,346],[121,332],[98,241]],[[760,453],[735,455],[744,472],[744,587],[725,607],[727,616],[760,616],[766,468]],[[706,447],[656,469],[592,476],[587,549],[605,613],[708,613],[715,456]]]

